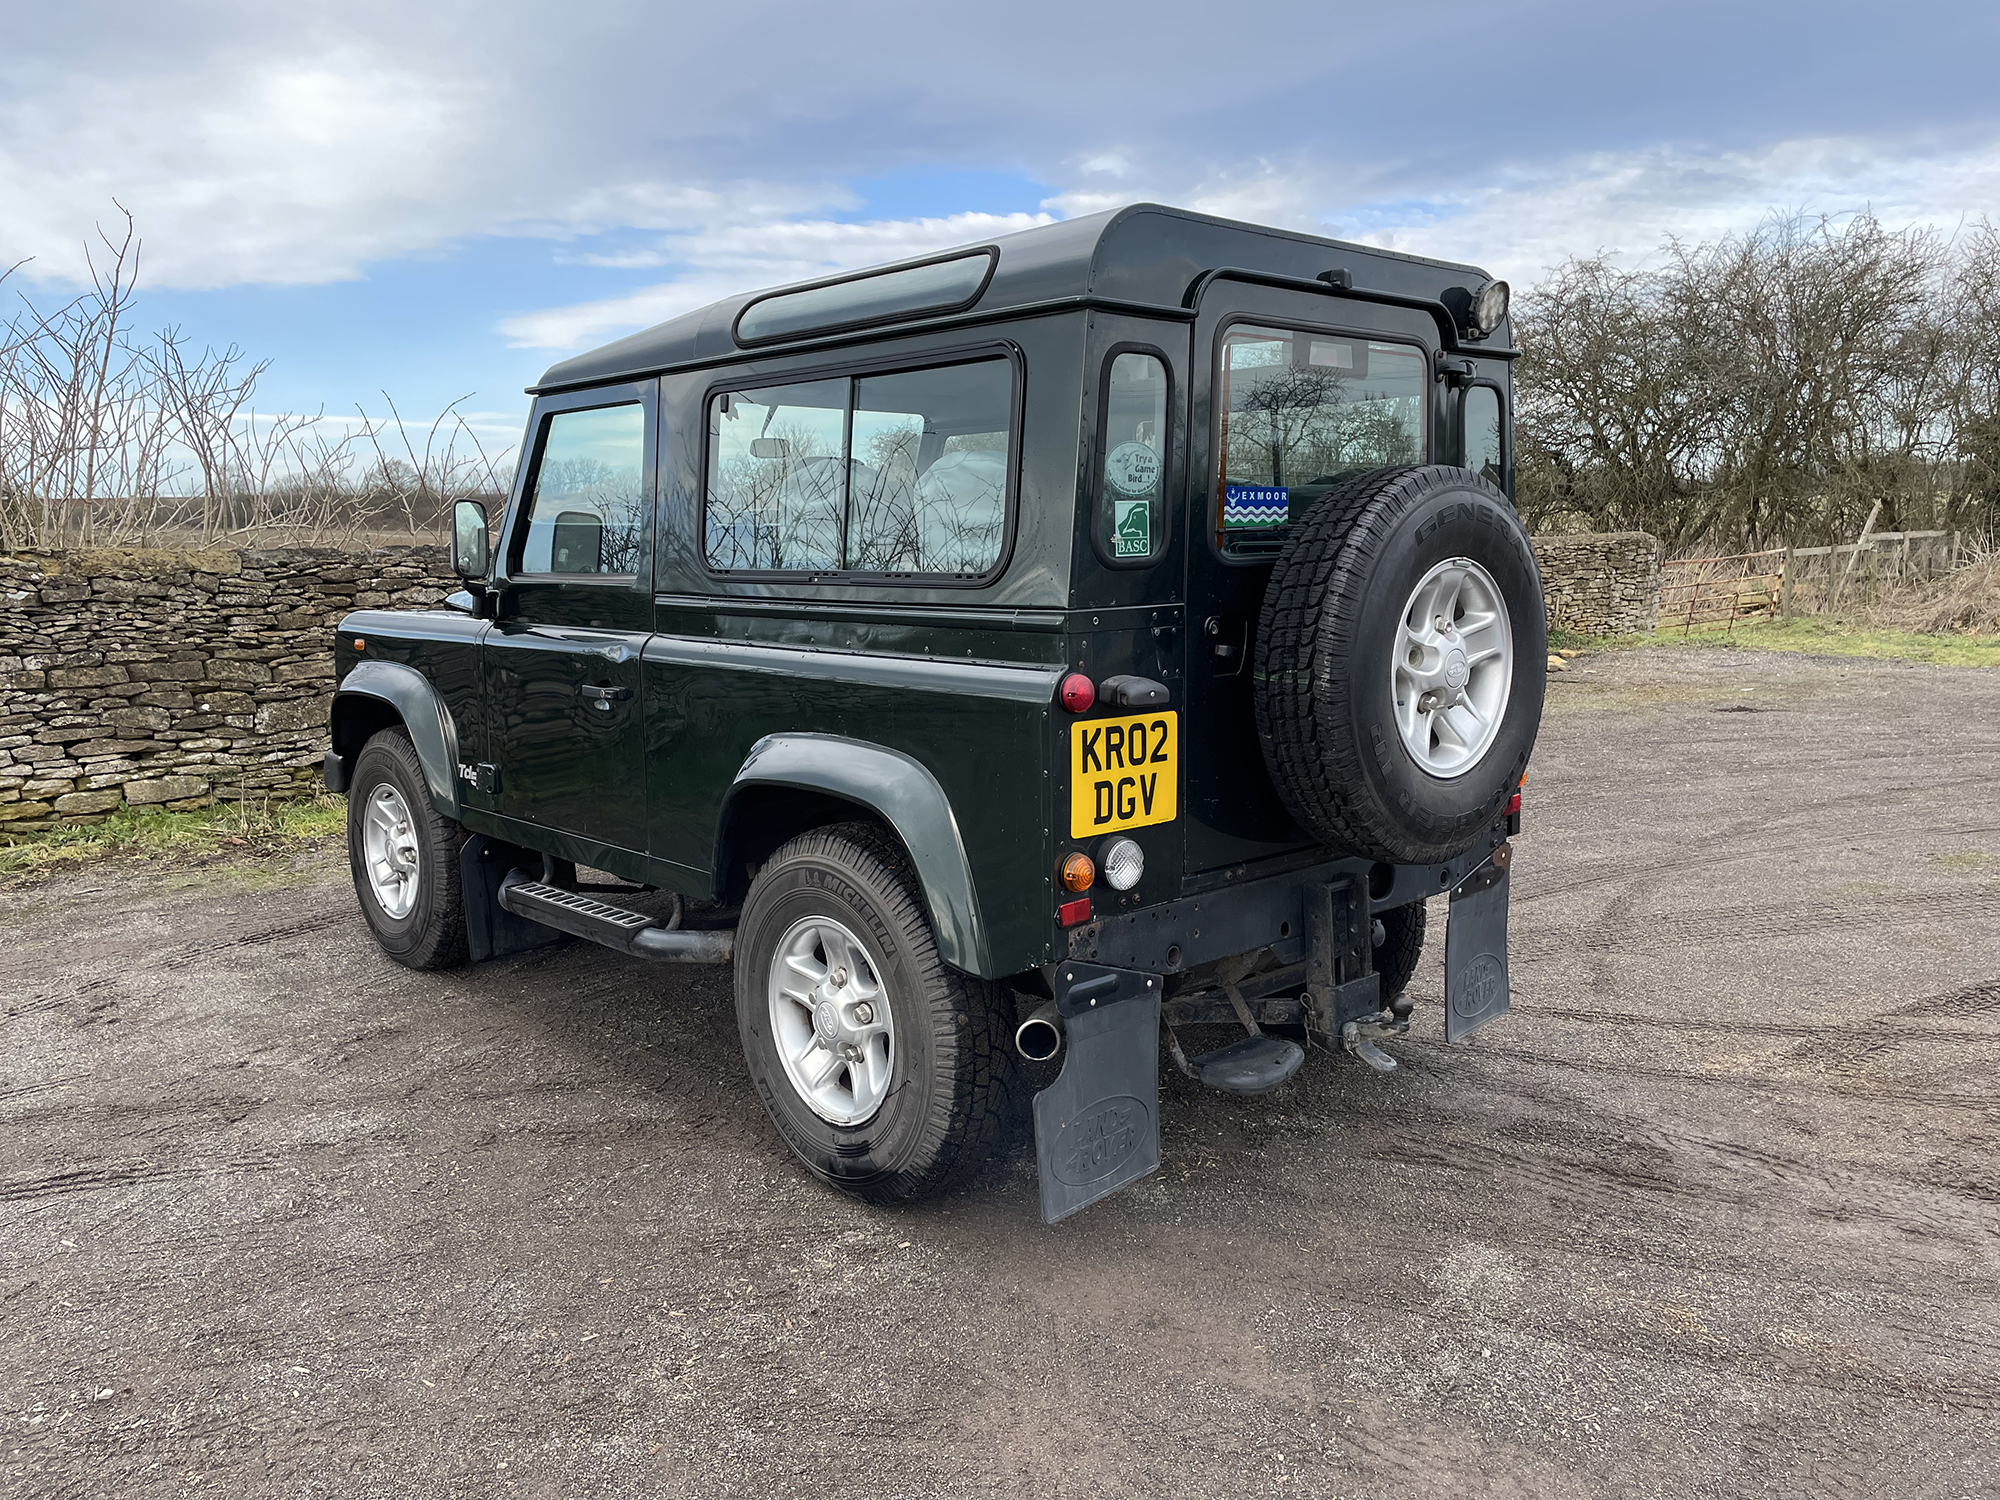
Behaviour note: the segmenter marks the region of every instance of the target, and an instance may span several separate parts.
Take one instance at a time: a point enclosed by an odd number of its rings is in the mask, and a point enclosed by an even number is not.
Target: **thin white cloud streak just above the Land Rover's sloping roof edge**
[[[950,214],[866,224],[826,218],[720,224],[674,234],[652,252],[658,260],[650,264],[688,268],[670,282],[598,302],[524,312],[504,318],[500,332],[514,348],[582,348],[738,292],[904,260],[1050,222],[1050,214]]]

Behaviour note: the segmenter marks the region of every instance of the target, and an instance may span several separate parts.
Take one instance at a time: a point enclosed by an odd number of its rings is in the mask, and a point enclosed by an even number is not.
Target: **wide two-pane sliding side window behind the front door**
[[[728,390],[708,400],[718,572],[992,572],[1006,546],[1014,364]]]

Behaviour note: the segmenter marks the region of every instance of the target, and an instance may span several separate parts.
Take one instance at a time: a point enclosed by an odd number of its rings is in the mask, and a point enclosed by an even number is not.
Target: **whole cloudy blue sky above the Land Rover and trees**
[[[140,316],[266,410],[504,444],[554,360],[734,290],[1142,198],[1480,262],[1770,210],[2000,218],[2000,6],[6,0],[0,266],[114,200]]]

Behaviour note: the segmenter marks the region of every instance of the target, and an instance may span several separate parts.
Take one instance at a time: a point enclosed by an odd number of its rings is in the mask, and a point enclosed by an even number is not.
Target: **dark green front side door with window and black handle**
[[[646,846],[654,414],[652,382],[538,406],[484,648],[500,812],[624,850]]]

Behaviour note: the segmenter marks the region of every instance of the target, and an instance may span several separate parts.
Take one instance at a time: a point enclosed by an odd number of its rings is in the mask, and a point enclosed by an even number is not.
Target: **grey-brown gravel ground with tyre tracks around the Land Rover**
[[[0,894],[6,1496],[2000,1494],[2000,674],[1552,682],[1516,1014],[796,1172],[726,982],[384,962],[338,850]],[[1436,914],[1442,918],[1442,912]]]

